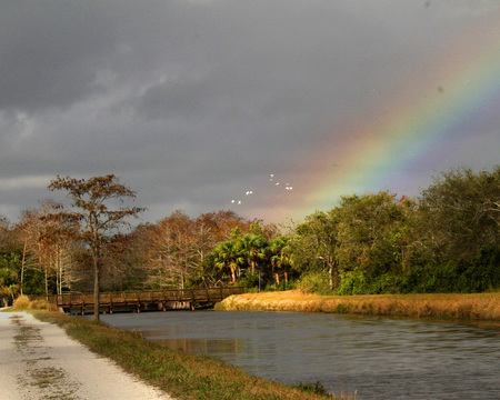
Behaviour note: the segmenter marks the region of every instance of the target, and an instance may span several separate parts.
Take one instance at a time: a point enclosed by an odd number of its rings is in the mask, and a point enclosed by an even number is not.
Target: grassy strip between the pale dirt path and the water
[[[171,351],[103,323],[68,317],[59,312],[31,310],[40,320],[57,323],[91,351],[116,361],[126,371],[150,382],[176,399],[277,400],[336,399],[260,378],[206,357]],[[313,390],[313,384],[302,386]],[[317,389],[317,388],[316,388]],[[343,396],[340,399],[349,399]]]

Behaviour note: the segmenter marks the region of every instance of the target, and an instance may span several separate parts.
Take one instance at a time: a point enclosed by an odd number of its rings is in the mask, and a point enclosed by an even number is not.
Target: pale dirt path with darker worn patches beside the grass
[[[172,400],[24,312],[0,312],[0,399]]]

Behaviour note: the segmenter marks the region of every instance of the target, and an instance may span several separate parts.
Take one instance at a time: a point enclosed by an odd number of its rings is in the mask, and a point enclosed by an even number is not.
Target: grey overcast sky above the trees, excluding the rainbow
[[[62,199],[47,190],[57,174],[114,173],[148,208],[142,221],[231,209],[282,222],[284,203],[300,221],[318,207],[303,182],[329,177],[316,154],[334,162],[352,127],[420,103],[401,89],[417,79],[446,101],[451,88],[422,77],[449,48],[462,48],[448,57],[457,69],[481,43],[499,53],[492,20],[498,0],[1,1],[0,214],[17,222]],[[366,190],[417,196],[437,171],[499,163],[491,84],[470,131],[428,140],[403,187],[388,173]]]

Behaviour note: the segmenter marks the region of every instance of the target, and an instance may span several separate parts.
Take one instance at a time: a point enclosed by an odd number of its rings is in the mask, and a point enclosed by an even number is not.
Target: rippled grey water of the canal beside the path
[[[103,316],[250,374],[318,380],[359,400],[500,399],[500,328],[334,314],[176,311]]]

